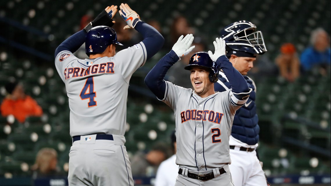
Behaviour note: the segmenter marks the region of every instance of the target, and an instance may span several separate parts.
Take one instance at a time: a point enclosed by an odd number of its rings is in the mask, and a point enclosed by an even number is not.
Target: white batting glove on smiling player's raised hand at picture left
[[[181,35],[178,38],[178,41],[173,45],[172,50],[177,54],[179,57],[186,56],[188,53],[190,53],[194,49],[194,45],[191,46],[193,42],[193,34],[187,34],[184,38],[184,36]],[[191,46],[191,47],[190,47]]]

